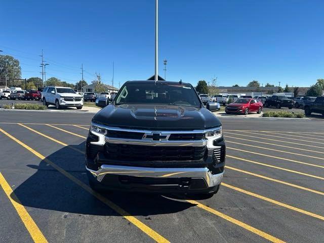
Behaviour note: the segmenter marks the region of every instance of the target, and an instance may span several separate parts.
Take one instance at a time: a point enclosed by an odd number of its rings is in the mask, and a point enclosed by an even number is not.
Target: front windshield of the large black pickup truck
[[[125,84],[116,98],[116,105],[121,104],[201,106],[194,89],[188,84],[146,82]]]

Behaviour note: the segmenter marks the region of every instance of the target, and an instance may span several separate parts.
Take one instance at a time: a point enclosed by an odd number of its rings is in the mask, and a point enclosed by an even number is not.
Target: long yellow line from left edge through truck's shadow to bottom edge
[[[70,173],[68,173],[65,170],[63,170],[61,167],[57,166],[55,163],[53,163],[50,159],[46,158],[44,155],[38,153],[37,151],[35,151],[34,149],[32,149],[31,147],[29,147],[25,143],[21,142],[17,138],[13,137],[12,135],[10,135],[9,133],[7,133],[6,131],[4,131],[1,128],[0,128],[0,132],[4,133],[9,138],[11,138],[12,140],[14,140],[15,142],[17,142],[18,144],[20,144],[21,146],[23,146],[27,150],[29,150],[31,153],[33,153],[34,155],[36,155],[38,158],[41,158],[42,160],[46,161],[46,163],[49,164],[50,166],[52,166],[55,170],[57,170],[58,172],[60,172],[61,174],[63,174],[67,178],[69,178],[71,181],[73,181],[75,184],[77,184],[78,186],[82,187],[83,189],[85,189],[86,191],[88,191],[90,194],[92,194],[93,196],[95,196],[96,198],[98,198],[100,201],[102,201],[104,204],[106,204],[109,208],[111,208],[112,210],[114,210],[115,212],[117,212],[118,214],[120,214],[121,216],[123,216],[125,219],[127,219],[128,221],[130,221],[135,226],[137,226],[140,230],[142,230],[144,233],[146,233],[148,236],[150,236],[156,242],[169,242],[166,238],[164,238],[163,236],[159,235],[157,232],[155,232],[153,229],[151,229],[150,227],[148,227],[147,225],[145,225],[144,223],[142,223],[140,220],[138,220],[134,216],[131,216],[124,209],[120,208],[119,206],[117,206],[116,204],[114,204],[112,201],[110,201],[109,199],[107,199],[106,197],[104,197],[103,195],[101,195],[100,193],[97,193],[97,192],[93,191],[87,184],[83,183],[82,181],[80,181],[76,177],[72,176]]]

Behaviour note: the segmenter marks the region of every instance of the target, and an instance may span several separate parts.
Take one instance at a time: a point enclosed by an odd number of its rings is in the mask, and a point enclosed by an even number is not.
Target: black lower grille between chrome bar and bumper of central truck
[[[106,143],[105,150],[110,159],[127,161],[172,161],[199,160],[207,152],[206,146],[145,146]]]

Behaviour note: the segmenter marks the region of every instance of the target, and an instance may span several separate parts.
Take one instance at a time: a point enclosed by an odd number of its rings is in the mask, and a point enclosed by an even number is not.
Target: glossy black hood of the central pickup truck
[[[173,105],[108,105],[92,119],[94,123],[119,128],[194,130],[221,126],[206,108]]]

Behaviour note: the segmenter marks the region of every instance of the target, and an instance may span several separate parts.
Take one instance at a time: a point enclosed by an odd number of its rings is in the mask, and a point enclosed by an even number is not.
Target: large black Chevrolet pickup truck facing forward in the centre
[[[211,197],[224,166],[221,123],[190,84],[128,81],[92,119],[86,169],[94,190]]]

